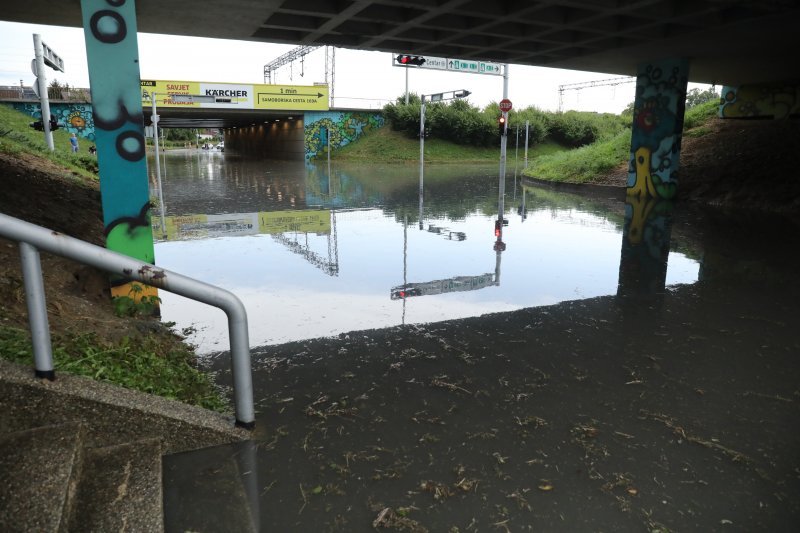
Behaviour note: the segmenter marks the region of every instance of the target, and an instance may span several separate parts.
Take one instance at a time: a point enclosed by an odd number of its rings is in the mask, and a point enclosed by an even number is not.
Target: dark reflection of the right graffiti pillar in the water
[[[672,230],[672,202],[628,196],[617,296],[664,293]]]

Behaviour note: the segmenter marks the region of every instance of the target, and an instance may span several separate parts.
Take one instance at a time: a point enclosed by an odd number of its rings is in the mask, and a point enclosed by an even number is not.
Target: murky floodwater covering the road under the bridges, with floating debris
[[[166,162],[157,262],[244,301],[257,411],[165,457],[169,531],[796,529],[786,220],[513,161],[502,199],[495,166]],[[227,387],[224,315],[161,296]]]

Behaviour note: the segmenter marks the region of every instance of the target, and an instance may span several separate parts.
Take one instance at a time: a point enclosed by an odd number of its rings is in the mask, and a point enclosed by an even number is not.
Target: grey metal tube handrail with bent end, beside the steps
[[[0,236],[20,244],[25,300],[28,306],[37,377],[55,378],[50,326],[39,260],[39,250],[44,250],[222,309],[228,316],[236,425],[248,429],[255,427],[247,312],[233,293],[2,213],[0,213]]]

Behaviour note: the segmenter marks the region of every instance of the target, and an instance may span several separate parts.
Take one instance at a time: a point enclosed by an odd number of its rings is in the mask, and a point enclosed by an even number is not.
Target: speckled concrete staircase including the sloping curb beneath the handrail
[[[0,531],[164,531],[162,457],[249,437],[204,409],[0,360]]]

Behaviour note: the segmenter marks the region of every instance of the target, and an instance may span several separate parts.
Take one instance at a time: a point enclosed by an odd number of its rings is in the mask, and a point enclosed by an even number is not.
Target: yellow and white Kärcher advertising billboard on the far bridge
[[[327,111],[327,85],[264,85],[184,80],[141,80],[142,106]],[[182,95],[184,98],[174,98]],[[191,97],[191,98],[190,98]]]

